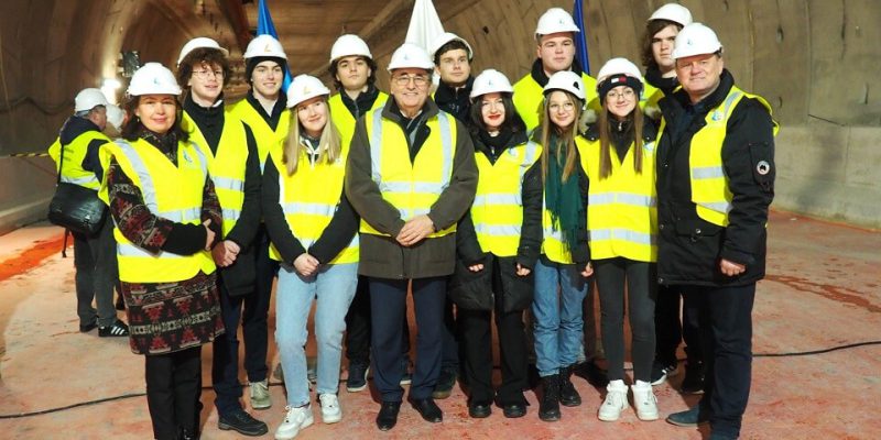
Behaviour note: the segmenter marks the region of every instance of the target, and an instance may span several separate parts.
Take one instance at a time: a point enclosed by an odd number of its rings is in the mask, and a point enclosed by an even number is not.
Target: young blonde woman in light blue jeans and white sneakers
[[[287,413],[276,439],[293,439],[313,424],[306,380],[309,310],[318,343],[317,397],[325,424],[342,418],[337,400],[342,332],[358,283],[359,219],[342,196],[349,146],[330,119],[330,90],[301,75],[287,89],[291,134],[263,169],[263,217],[270,256],[281,263],[275,295],[275,342],[287,389]]]

